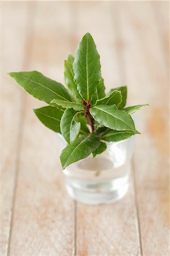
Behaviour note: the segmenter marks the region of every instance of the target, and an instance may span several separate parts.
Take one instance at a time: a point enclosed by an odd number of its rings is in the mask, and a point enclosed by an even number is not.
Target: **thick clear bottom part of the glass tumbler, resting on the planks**
[[[82,184],[83,183],[83,184]],[[109,204],[121,199],[128,190],[128,175],[105,182],[66,180],[72,199],[85,204]]]

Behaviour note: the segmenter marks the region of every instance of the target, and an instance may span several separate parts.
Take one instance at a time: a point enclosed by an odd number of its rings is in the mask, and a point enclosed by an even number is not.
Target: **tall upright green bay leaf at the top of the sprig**
[[[87,33],[81,39],[75,52],[73,62],[74,81],[77,90],[85,101],[90,101],[96,93],[101,79],[101,64],[96,44],[92,36]]]

